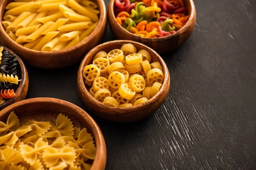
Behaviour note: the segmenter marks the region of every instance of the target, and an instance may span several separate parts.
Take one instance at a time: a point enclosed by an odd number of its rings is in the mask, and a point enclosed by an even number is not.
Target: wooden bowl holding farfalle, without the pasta
[[[36,119],[37,121],[50,121],[55,124],[59,113],[68,116],[73,125],[81,128],[85,127],[94,138],[97,149],[91,170],[105,169],[107,151],[102,132],[93,118],[78,106],[53,98],[26,99],[0,111],[0,121],[6,121],[12,111],[18,116],[21,123],[25,123],[28,119]]]

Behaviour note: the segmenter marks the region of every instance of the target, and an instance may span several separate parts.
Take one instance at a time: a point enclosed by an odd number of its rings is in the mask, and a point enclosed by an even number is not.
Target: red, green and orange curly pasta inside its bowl
[[[120,26],[145,38],[174,34],[189,19],[183,0],[115,0],[114,11]]]

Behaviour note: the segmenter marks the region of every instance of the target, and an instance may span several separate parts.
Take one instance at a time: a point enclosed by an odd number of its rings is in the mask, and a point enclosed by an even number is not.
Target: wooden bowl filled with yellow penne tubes
[[[79,62],[100,42],[106,22],[103,0],[0,1],[2,45],[38,68]]]

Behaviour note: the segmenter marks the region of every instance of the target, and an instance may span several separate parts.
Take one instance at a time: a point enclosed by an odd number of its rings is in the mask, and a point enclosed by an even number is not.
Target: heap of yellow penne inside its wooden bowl
[[[26,48],[58,51],[93,32],[99,21],[97,8],[90,0],[22,0],[6,6],[2,24],[6,34]]]

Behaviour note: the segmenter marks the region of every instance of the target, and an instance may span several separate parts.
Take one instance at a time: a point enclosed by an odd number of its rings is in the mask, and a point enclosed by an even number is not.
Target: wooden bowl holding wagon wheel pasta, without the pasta
[[[84,85],[85,79],[83,77],[83,69],[86,65],[92,64],[93,57],[99,51],[106,51],[108,53],[109,51],[115,48],[120,49],[121,46],[126,43],[133,44],[137,48],[137,51],[141,49],[147,50],[151,54],[151,62],[160,62],[164,74],[163,85],[156,95],[154,95],[151,99],[149,99],[142,105],[137,105],[130,108],[109,107],[103,104],[102,102],[99,102],[89,94],[89,91]],[[145,117],[154,113],[163,104],[170,88],[170,74],[166,66],[166,63],[157,54],[157,52],[155,52],[151,48],[134,41],[116,40],[105,42],[101,45],[98,45],[95,48],[93,48],[89,53],[87,53],[87,55],[82,60],[78,70],[77,87],[82,101],[91,111],[93,111],[93,113],[97,114],[98,116],[104,119],[108,119],[114,122],[135,122],[144,119]]]

